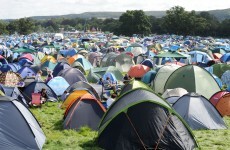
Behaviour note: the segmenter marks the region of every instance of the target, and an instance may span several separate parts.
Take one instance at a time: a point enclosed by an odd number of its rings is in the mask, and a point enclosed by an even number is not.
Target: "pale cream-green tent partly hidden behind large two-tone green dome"
[[[178,65],[165,65],[162,66],[158,71],[157,74],[155,76],[155,79],[153,80],[153,89],[156,93],[160,93],[163,94],[164,93],[164,86],[165,83],[167,81],[167,79],[169,78],[169,76],[178,68],[180,68],[180,66]]]

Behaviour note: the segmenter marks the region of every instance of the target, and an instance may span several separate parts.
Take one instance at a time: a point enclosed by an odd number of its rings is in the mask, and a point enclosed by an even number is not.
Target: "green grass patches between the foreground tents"
[[[63,130],[64,110],[60,109],[61,102],[48,102],[42,108],[32,108],[31,111],[42,126],[46,135],[45,150],[97,150],[100,149],[95,139],[97,132],[84,127],[80,131]],[[230,118],[225,118],[230,126]],[[227,150],[230,149],[230,130],[201,130],[194,131],[195,137],[202,150]]]

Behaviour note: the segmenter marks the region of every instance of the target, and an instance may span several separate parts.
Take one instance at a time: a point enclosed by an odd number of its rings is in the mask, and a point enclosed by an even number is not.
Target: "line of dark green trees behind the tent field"
[[[119,19],[99,18],[58,18],[33,20],[21,18],[11,21],[0,21],[0,34],[30,34],[32,32],[60,32],[101,30],[116,35],[132,36],[133,34],[177,34],[191,36],[229,37],[230,19],[219,21],[208,12],[196,13],[175,6],[166,11],[162,18],[147,16],[143,10],[128,10]]]

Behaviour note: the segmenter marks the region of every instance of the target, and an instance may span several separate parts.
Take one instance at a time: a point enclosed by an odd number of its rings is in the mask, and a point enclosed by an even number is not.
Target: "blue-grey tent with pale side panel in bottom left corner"
[[[0,96],[0,149],[42,149],[45,135],[32,113],[20,102]]]

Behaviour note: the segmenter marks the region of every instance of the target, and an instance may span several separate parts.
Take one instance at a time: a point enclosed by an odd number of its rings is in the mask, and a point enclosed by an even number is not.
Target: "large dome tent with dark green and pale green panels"
[[[201,94],[207,99],[220,91],[220,87],[212,75],[195,65],[183,66],[174,71],[165,83],[164,90],[178,87],[184,88],[188,92]]]

